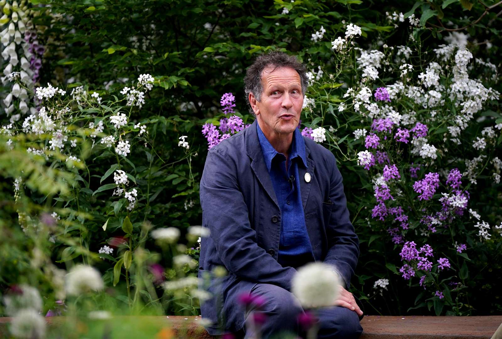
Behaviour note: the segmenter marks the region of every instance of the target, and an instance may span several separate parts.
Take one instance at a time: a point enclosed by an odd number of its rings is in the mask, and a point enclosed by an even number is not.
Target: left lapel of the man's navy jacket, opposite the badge
[[[276,192],[274,191],[274,186],[272,185],[272,179],[270,178],[270,174],[267,169],[267,165],[265,164],[265,159],[263,157],[262,147],[260,146],[260,140],[258,140],[258,132],[256,129],[256,124],[257,122],[255,120],[255,122],[245,130],[246,154],[252,159],[251,168],[255,172],[258,181],[260,181],[267,194],[271,197],[271,199],[275,202],[275,204],[279,208]]]

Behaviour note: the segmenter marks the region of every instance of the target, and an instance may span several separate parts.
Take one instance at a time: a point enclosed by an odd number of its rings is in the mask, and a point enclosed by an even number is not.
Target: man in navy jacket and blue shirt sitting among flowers
[[[214,295],[201,306],[213,321],[206,328],[213,335],[244,332],[252,313],[238,297],[252,293],[266,301],[263,337],[298,332],[303,309],[291,280],[296,268],[322,261],[344,286],[333,306],[317,313],[319,337],[358,337],[362,311],[346,289],[359,246],[342,177],[333,154],[297,128],[305,66],[285,53],[261,55],[244,84],[256,121],[209,150],[200,183],[202,223],[211,233],[202,240],[199,277]],[[214,274],[218,266],[225,277]]]

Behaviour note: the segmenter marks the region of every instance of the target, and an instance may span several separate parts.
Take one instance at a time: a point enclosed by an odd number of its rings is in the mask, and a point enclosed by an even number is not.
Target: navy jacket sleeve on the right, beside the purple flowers
[[[335,268],[342,277],[345,288],[348,289],[359,257],[359,239],[350,222],[341,173],[332,154],[331,157],[333,164],[329,197],[333,205],[329,224],[326,227],[328,251],[324,262]]]

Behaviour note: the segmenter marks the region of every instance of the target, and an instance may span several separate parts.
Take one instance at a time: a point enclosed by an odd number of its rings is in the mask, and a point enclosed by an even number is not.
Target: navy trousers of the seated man
[[[265,305],[259,311],[265,313],[266,320],[260,326],[262,338],[280,338],[281,333],[304,335],[304,331],[298,324],[298,315],[304,312],[298,299],[293,293],[282,287],[271,284],[256,284],[249,291],[253,295],[259,295],[266,300]],[[225,300],[226,302],[238,302],[237,300]],[[255,309],[244,310],[246,323]],[[355,311],[346,307],[332,306],[322,307],[313,311],[318,319],[316,326],[319,328],[318,338],[358,338],[362,333],[359,317]],[[256,338],[253,328],[243,328],[238,336]]]

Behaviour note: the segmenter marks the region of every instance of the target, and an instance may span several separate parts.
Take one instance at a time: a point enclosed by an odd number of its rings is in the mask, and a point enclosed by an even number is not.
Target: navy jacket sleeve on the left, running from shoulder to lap
[[[209,229],[217,253],[206,257],[218,256],[230,273],[243,280],[290,290],[296,270],[282,267],[258,246],[237,175],[236,163],[224,149],[209,150],[200,181],[200,202],[203,225]]]

